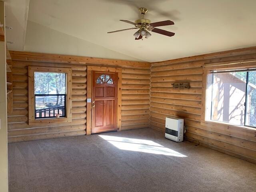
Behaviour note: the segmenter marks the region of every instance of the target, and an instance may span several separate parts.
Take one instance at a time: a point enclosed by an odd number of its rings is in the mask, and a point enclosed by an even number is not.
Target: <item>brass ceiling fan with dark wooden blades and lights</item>
[[[151,34],[150,34],[149,31],[159,33],[159,34],[162,34],[162,35],[166,35],[166,36],[169,36],[169,37],[174,36],[175,33],[173,33],[173,32],[169,32],[169,31],[166,31],[166,30],[155,28],[155,27],[159,27],[159,26],[174,25],[174,22],[172,22],[170,20],[166,20],[166,21],[150,23],[149,19],[144,19],[144,14],[146,14],[148,12],[148,10],[146,8],[142,7],[142,8],[139,8],[139,11],[142,14],[142,18],[136,20],[135,22],[131,22],[131,21],[128,21],[128,20],[120,20],[120,21],[129,23],[129,24],[132,24],[135,27],[128,28],[128,29],[111,31],[111,32],[108,32],[108,33],[115,33],[115,32],[120,32],[120,31],[131,30],[131,29],[138,29],[138,31],[134,33],[135,40],[142,39],[143,36],[145,36],[145,38],[150,38]]]

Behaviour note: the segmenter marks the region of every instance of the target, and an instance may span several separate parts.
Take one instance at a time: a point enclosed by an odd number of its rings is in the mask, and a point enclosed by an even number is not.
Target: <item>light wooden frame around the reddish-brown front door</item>
[[[117,78],[117,130],[121,131],[122,122],[122,68],[87,66],[86,135],[92,132],[92,71],[116,72]],[[90,102],[88,102],[90,101]]]

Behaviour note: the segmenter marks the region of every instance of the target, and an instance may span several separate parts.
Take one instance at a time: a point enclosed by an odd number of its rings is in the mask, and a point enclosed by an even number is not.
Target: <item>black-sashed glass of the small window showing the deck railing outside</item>
[[[66,116],[66,73],[34,72],[35,118]]]

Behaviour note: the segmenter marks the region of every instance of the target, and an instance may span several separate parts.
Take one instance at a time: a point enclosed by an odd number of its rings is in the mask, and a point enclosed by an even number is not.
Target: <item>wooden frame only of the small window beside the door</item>
[[[66,74],[66,115],[60,118],[35,118],[34,72]],[[72,122],[72,69],[54,67],[28,67],[28,124],[71,123]]]

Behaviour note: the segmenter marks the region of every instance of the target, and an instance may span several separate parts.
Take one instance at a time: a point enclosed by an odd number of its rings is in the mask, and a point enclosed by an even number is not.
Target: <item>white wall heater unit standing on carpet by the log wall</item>
[[[165,138],[182,142],[184,133],[184,119],[166,117],[165,119]]]

